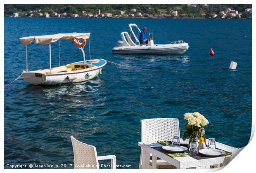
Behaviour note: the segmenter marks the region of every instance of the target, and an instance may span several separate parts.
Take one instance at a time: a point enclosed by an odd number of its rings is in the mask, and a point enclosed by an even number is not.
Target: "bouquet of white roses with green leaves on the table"
[[[199,112],[185,113],[184,119],[187,120],[187,124],[183,127],[186,131],[183,134],[182,139],[199,138],[201,133],[201,127],[209,124],[208,120]]]

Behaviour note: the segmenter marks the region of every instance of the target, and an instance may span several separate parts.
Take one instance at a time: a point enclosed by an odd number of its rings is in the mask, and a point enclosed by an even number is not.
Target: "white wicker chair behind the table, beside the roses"
[[[141,123],[141,142],[138,143],[142,147],[142,143],[156,143],[161,140],[171,141],[173,136],[180,137],[179,119],[177,118],[155,118],[142,119]],[[152,164],[152,162],[150,162]],[[142,167],[142,148],[140,149],[140,166]],[[176,168],[164,160],[157,160],[156,168]]]

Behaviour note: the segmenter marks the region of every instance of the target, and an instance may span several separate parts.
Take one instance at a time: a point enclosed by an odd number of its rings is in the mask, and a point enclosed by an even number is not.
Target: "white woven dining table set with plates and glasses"
[[[182,140],[182,139],[181,139]],[[207,143],[207,141],[206,141]],[[190,156],[185,157],[170,157],[167,154],[160,152],[152,147],[161,147],[163,145],[159,143],[142,143],[139,142],[138,145],[142,147],[142,168],[156,168],[156,159],[160,158],[164,161],[176,166],[176,168],[210,168],[211,165],[223,163],[225,157],[232,157],[231,155],[223,157],[206,157],[205,159],[194,159]],[[222,143],[216,142],[216,148],[224,150],[226,152],[231,152],[237,150],[235,147],[231,147]],[[152,154],[152,166],[149,165],[150,154]]]

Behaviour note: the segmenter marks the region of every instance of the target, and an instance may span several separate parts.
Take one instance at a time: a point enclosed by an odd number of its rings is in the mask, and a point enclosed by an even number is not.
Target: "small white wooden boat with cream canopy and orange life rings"
[[[33,85],[55,85],[69,82],[83,82],[89,79],[93,79],[98,74],[102,73],[101,70],[107,64],[107,61],[101,58],[85,61],[85,53],[83,48],[86,44],[86,39],[89,38],[90,33],[65,33],[20,38],[20,42],[26,46],[26,71],[22,72],[21,77],[23,77],[26,82],[29,82]],[[78,45],[79,49],[81,49],[83,52],[83,61],[52,68],[51,43],[56,42],[59,39],[72,39],[73,42]],[[76,39],[81,39],[83,42],[80,43]],[[28,71],[27,45],[33,41],[35,44],[49,44],[50,68]]]

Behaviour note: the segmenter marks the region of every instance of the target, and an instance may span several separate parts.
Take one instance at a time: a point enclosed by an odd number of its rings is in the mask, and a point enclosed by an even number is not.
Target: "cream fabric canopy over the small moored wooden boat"
[[[90,33],[59,33],[53,35],[30,36],[19,38],[19,41],[24,45],[30,44],[33,40],[35,40],[35,44],[50,44],[52,42],[58,41],[59,39],[67,40],[70,38],[88,39],[90,38]]]

